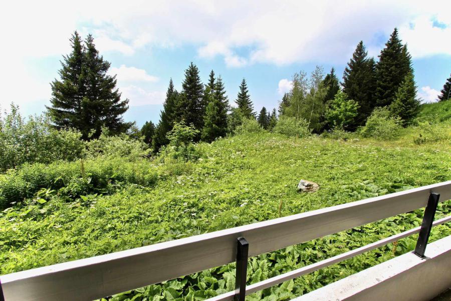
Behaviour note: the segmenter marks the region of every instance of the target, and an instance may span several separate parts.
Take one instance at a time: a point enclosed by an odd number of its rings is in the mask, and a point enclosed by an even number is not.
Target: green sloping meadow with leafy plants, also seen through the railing
[[[428,116],[431,106],[423,106],[421,118]],[[428,130],[449,133],[449,120],[436,126]],[[238,135],[196,145],[201,158],[188,163],[134,156],[25,165],[0,175],[0,203],[16,202],[0,213],[0,272],[111,253],[450,180],[450,139],[444,135],[415,144],[413,139],[422,130],[403,129],[392,141],[357,139],[355,135],[346,141],[271,133]],[[300,179],[318,183],[320,190],[298,193]],[[449,201],[441,203],[436,218],[450,211]],[[417,210],[252,258],[248,283],[418,226],[421,218],[422,210]],[[431,240],[449,235],[450,229],[449,225],[434,227]],[[415,239],[400,240],[247,299],[293,298],[410,251]],[[232,290],[234,273],[234,264],[229,264],[113,299],[200,300]]]

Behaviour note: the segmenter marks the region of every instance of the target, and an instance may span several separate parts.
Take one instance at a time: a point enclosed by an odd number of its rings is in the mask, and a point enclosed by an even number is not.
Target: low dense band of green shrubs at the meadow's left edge
[[[76,162],[24,164],[0,175],[0,209],[33,198],[41,189],[68,200],[91,193],[108,194],[121,184],[152,187],[158,179],[146,160],[98,158]]]

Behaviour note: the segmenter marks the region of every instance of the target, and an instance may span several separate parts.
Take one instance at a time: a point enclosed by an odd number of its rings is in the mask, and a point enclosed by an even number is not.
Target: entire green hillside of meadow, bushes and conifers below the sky
[[[259,113],[243,78],[231,105],[223,80],[190,63],[169,80],[160,120],[124,121],[110,63],[75,32],[46,112],[0,118],[0,274],[307,212],[451,179],[451,75],[436,103],[417,98],[407,45],[394,29],[378,59],[359,42],[340,82],[292,76]],[[299,193],[300,179],[319,184]],[[248,283],[421,224],[401,214],[250,259]],[[451,212],[438,205],[436,218]],[[449,235],[434,227],[430,241]],[[411,251],[416,236],[247,297],[289,300]],[[103,300],[203,300],[233,290],[235,264]]]

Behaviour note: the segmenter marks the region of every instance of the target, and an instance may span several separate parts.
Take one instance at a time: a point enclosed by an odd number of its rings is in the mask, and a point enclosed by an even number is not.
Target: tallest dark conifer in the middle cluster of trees
[[[199,69],[191,62],[185,70],[177,112],[181,120],[188,125],[194,125],[197,130],[201,130],[203,127],[205,111],[203,100],[203,84],[200,81]],[[198,138],[196,137],[196,139]]]

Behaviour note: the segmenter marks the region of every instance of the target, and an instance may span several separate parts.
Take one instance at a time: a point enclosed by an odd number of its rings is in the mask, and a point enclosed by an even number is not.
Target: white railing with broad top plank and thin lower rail
[[[451,199],[451,181],[150,246],[0,276],[5,299],[93,300],[278,250],[426,206],[431,193]],[[434,222],[445,223],[451,217]],[[419,232],[419,227],[245,287],[246,294],[298,277]],[[420,234],[421,235],[421,234]],[[427,241],[427,238],[426,238]],[[214,300],[232,300],[231,291]],[[241,297],[243,297],[242,294]]]

